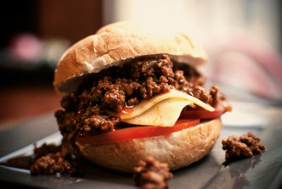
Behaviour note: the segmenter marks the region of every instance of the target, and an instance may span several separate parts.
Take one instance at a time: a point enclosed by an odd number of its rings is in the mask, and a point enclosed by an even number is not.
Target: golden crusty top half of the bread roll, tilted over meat
[[[170,59],[194,67],[207,61],[204,49],[186,35],[164,37],[137,23],[112,23],[73,44],[61,56],[53,84],[57,92],[73,92],[85,75],[99,73],[110,66],[121,66],[137,56],[159,54],[168,54]]]

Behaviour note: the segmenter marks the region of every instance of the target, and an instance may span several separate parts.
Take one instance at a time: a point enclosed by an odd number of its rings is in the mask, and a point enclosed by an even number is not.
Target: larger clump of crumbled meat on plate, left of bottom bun
[[[32,175],[51,175],[60,173],[62,175],[71,176],[75,172],[73,166],[61,157],[61,152],[56,154],[50,153],[40,157],[30,167]]]

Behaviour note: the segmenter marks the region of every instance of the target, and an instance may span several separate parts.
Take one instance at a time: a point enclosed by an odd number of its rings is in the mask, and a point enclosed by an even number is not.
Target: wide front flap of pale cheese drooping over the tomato
[[[174,126],[182,109],[191,104],[183,98],[168,98],[155,104],[139,116],[123,120],[125,123],[143,126]]]

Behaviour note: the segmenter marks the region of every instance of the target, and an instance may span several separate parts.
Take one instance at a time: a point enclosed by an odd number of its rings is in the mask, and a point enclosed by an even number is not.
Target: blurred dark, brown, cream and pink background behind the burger
[[[102,25],[136,20],[183,32],[209,55],[202,68],[230,99],[281,104],[282,3],[278,0],[3,1],[0,129],[60,107],[54,69],[74,42]]]

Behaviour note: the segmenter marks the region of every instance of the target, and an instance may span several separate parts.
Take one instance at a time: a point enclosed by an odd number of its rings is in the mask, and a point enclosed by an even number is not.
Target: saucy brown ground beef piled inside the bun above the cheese
[[[212,106],[226,101],[218,87],[203,87],[205,78],[195,68],[173,63],[168,56],[159,59],[134,60],[123,67],[109,68],[93,74],[61,101],[64,110],[56,111],[59,129],[64,137],[76,131],[78,135],[97,135],[123,127],[118,116],[110,116],[106,109],[119,112],[143,99],[170,89],[192,94]],[[227,109],[224,105],[223,108]]]

